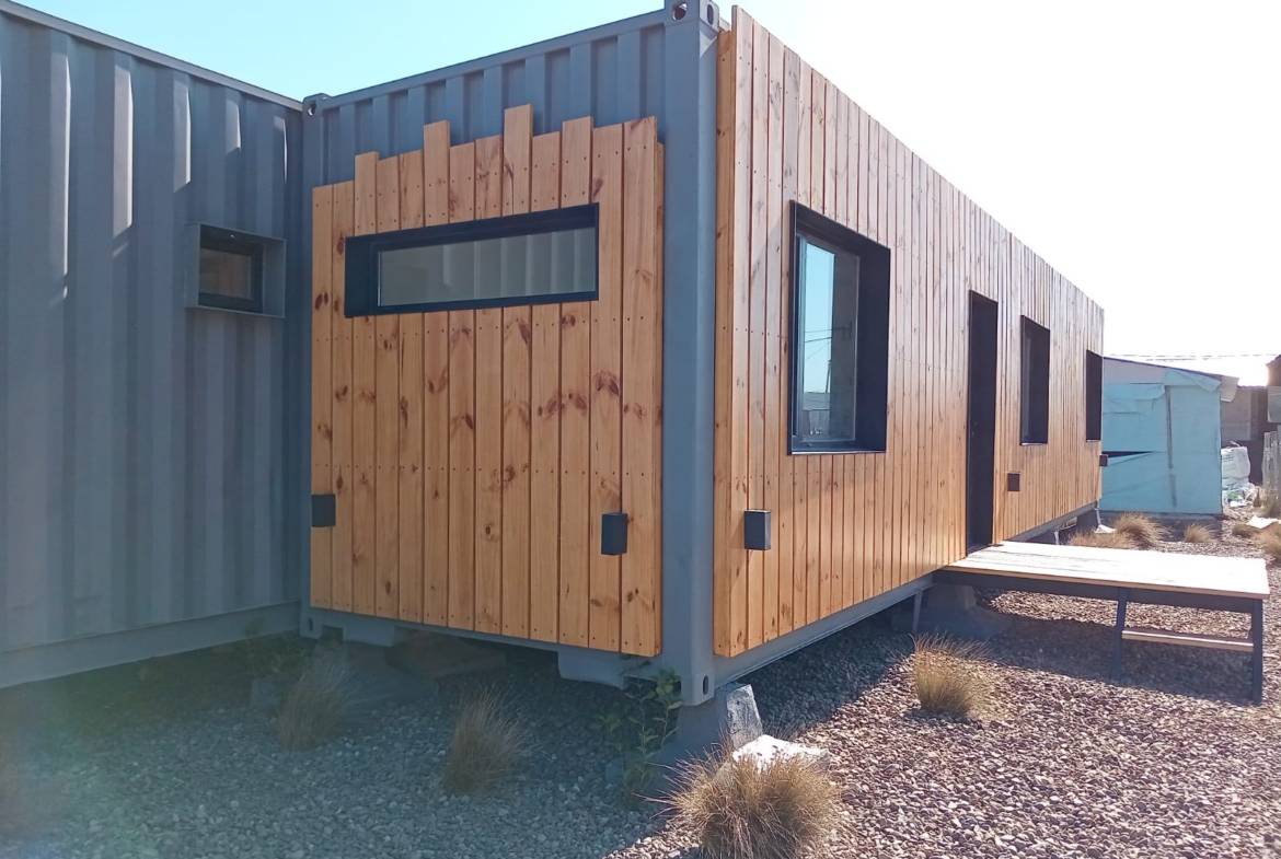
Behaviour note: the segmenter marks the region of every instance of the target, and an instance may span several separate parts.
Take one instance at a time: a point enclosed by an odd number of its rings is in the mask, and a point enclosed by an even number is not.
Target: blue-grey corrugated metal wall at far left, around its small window
[[[287,100],[0,5],[0,652],[297,598],[298,278],[284,320],[182,284],[193,221],[301,270],[300,150]]]

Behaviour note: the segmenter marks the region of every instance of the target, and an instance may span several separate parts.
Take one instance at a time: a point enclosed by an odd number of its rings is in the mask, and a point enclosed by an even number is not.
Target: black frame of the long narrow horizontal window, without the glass
[[[432,227],[414,227],[387,233],[351,236],[346,239],[346,294],[343,314],[355,316],[383,316],[391,314],[423,314],[446,310],[487,310],[492,307],[525,307],[529,305],[557,305],[562,302],[596,301],[600,297],[600,264],[592,271],[592,288],[575,292],[557,292],[535,296],[496,296],[491,298],[465,298],[460,301],[424,301],[383,305],[379,302],[378,257],[386,251],[437,245],[470,243],[511,236],[535,236],[591,227],[596,233],[597,261],[601,253],[600,206],[585,204],[548,209],[544,211],[482,218],[478,220]]]

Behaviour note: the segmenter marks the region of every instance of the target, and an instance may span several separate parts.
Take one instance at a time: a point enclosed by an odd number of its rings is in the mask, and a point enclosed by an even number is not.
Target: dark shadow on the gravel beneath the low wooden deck
[[[995,664],[1228,704],[1250,703],[1249,658],[1243,654],[1129,643],[1123,673],[1117,677],[1111,626],[1002,613],[1013,625],[988,643],[988,659]]]

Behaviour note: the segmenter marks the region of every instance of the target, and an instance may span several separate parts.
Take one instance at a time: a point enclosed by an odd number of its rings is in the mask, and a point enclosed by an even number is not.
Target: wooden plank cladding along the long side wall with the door
[[[716,128],[716,654],[965,557],[971,291],[998,305],[994,539],[1098,499],[1084,433],[1095,303],[737,8]],[[881,452],[788,452],[793,201],[890,248]],[[1048,444],[1020,443],[1022,316],[1050,330]],[[758,507],[775,522],[763,552],[743,548],[743,511]]]

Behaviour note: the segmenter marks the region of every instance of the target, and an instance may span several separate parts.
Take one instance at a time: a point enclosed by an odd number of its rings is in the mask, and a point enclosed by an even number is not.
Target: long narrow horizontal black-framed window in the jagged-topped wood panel
[[[347,239],[347,316],[597,297],[597,206]]]

